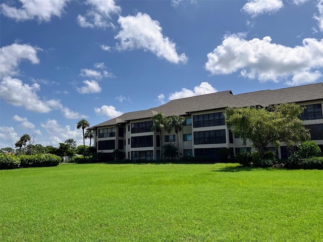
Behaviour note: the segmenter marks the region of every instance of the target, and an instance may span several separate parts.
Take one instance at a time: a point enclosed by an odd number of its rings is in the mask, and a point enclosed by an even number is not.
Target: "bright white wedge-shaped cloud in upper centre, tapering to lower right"
[[[119,50],[143,49],[149,50],[160,58],[175,64],[187,62],[185,53],[178,55],[176,44],[161,33],[159,22],[149,15],[138,13],[136,16],[119,17],[121,31],[115,36],[120,40]]]

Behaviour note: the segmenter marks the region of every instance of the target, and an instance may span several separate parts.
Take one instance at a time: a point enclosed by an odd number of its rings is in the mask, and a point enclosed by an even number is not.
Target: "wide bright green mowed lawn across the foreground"
[[[0,185],[0,241],[323,241],[322,170],[66,164]]]

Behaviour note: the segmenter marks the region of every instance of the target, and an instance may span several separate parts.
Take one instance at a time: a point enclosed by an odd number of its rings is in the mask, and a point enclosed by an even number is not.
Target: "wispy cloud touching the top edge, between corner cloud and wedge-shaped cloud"
[[[77,22],[81,27],[103,29],[114,27],[111,15],[121,12],[121,7],[117,6],[114,0],[87,0],[85,4],[90,6],[90,10],[84,16],[78,15]]]

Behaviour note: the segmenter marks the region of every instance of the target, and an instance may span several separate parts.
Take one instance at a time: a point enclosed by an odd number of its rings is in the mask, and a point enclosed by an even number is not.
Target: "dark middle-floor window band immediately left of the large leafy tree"
[[[194,132],[194,145],[226,143],[226,130]]]

